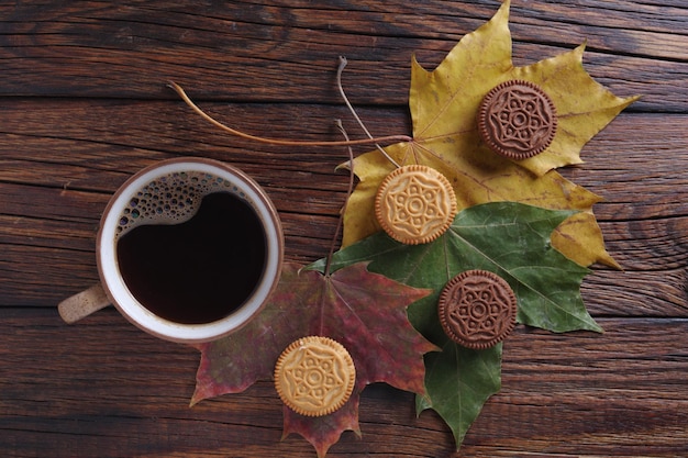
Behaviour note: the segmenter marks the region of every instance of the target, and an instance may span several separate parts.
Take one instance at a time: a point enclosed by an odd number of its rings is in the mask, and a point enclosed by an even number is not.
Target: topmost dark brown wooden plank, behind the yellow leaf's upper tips
[[[160,81],[171,78],[196,86],[202,98],[339,102],[333,75],[337,56],[346,55],[354,100],[403,104],[411,55],[434,67],[498,5],[7,3],[0,5],[8,18],[0,25],[0,94],[169,98]],[[675,31],[687,15],[685,5],[633,1],[614,8],[592,0],[514,2],[517,60],[550,57],[587,40],[589,71],[621,94],[645,94],[636,109],[685,113],[679,94],[688,89],[688,38]],[[296,78],[299,85],[284,85]]]

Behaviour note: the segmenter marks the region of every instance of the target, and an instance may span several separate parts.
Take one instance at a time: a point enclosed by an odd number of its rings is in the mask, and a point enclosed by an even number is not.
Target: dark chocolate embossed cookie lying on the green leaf
[[[484,349],[515,326],[517,299],[509,283],[487,270],[468,270],[444,287],[437,305],[445,334],[464,347]]]

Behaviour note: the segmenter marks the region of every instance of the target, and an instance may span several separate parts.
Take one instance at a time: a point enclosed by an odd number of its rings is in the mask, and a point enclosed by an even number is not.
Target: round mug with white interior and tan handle
[[[192,197],[187,196],[189,190]],[[245,300],[225,316],[200,323],[165,319],[144,305],[127,286],[118,258],[120,235],[149,225],[151,220],[153,224],[168,226],[191,221],[200,205],[199,196],[215,192],[229,192],[241,199],[257,216],[265,236],[265,259],[259,279]],[[181,198],[187,202],[180,202]],[[262,310],[279,280],[282,257],[284,235],[279,216],[265,191],[251,177],[211,159],[164,160],[131,177],[112,197],[102,215],[97,239],[100,283],[66,299],[58,310],[66,322],[74,323],[112,303],[130,322],[157,337],[180,343],[209,342],[238,329]],[[225,287],[232,288],[231,277],[223,281]]]

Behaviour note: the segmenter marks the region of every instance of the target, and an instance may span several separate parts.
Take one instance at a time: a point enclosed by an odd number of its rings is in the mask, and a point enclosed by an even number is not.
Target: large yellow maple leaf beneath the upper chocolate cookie
[[[454,187],[459,210],[495,201],[579,210],[581,213],[557,228],[553,245],[580,265],[599,261],[619,267],[606,252],[592,214],[600,198],[554,169],[581,163],[582,146],[637,98],[619,98],[596,82],[582,68],[582,45],[514,67],[508,20],[509,0],[488,23],[464,36],[435,70],[428,71],[413,59],[409,93],[413,141],[388,146],[385,152],[399,165],[422,164],[444,174]],[[476,120],[482,98],[509,80],[541,87],[558,116],[550,146],[518,161],[491,152],[480,139]],[[380,230],[374,212],[375,193],[393,168],[378,150],[354,160],[360,181],[346,206],[343,246]]]

